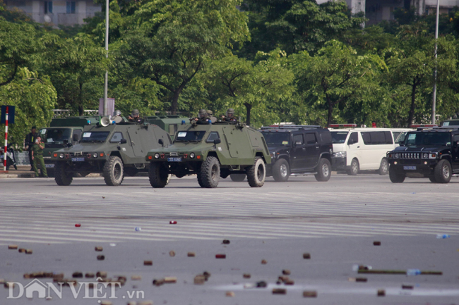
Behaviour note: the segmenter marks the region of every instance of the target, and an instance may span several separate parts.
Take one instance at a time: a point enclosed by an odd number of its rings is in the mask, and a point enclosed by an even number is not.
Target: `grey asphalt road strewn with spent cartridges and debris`
[[[68,187],[53,179],[1,179],[0,279],[18,284],[11,290],[17,299],[0,289],[0,304],[459,304],[458,187],[459,178],[392,184],[379,175],[268,178],[261,188],[226,179],[217,189],[201,189],[195,178],[172,179],[164,189],[150,187],[148,178],[126,178],[119,187],[103,178],[75,178]],[[357,265],[441,275],[362,274]],[[276,283],[282,270],[290,270],[293,285]],[[62,287],[62,297],[51,291],[50,300],[37,292],[20,297],[20,286],[32,281],[23,275],[39,271],[67,279],[106,271],[127,281],[114,292],[100,283],[99,292],[85,292],[95,278],[77,278],[77,297],[70,287]],[[195,285],[204,271],[210,278]],[[153,285],[165,277],[177,282]],[[267,287],[256,287],[260,282]],[[273,294],[277,288],[286,294]]]

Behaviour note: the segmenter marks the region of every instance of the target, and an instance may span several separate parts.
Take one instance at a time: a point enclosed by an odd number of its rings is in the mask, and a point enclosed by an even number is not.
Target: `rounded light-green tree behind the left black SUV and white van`
[[[366,94],[377,97],[375,94],[381,93],[378,73],[385,68],[381,58],[357,56],[354,49],[341,42],[327,42],[315,56],[306,51],[294,54],[290,62],[301,97],[309,106],[310,122],[327,126],[340,123],[345,116],[335,113],[335,108],[345,112],[354,105],[353,111],[359,111],[356,108],[362,108],[362,101],[374,102]]]

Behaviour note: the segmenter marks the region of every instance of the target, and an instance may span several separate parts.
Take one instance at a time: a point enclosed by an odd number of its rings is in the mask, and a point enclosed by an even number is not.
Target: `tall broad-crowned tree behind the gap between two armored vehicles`
[[[117,60],[160,85],[170,111],[177,113],[181,93],[201,71],[205,58],[220,56],[232,42],[247,39],[245,15],[237,10],[238,4],[237,0],[147,3],[132,16],[131,25],[138,26],[122,35]]]

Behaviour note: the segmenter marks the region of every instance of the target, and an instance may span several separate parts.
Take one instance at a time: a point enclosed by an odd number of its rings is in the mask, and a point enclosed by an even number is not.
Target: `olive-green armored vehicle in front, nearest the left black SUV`
[[[173,145],[160,144],[162,148],[150,150],[145,158],[152,187],[165,187],[169,174],[196,174],[201,187],[213,188],[232,173],[246,174],[251,187],[261,187],[271,163],[261,132],[239,123],[181,125]]]

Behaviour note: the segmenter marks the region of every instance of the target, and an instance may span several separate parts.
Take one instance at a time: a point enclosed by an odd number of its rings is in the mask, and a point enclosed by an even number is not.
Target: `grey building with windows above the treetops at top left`
[[[93,17],[100,12],[100,4],[93,1],[30,1],[6,0],[6,8],[19,9],[30,15],[37,23],[57,25],[82,25],[85,18]]]

